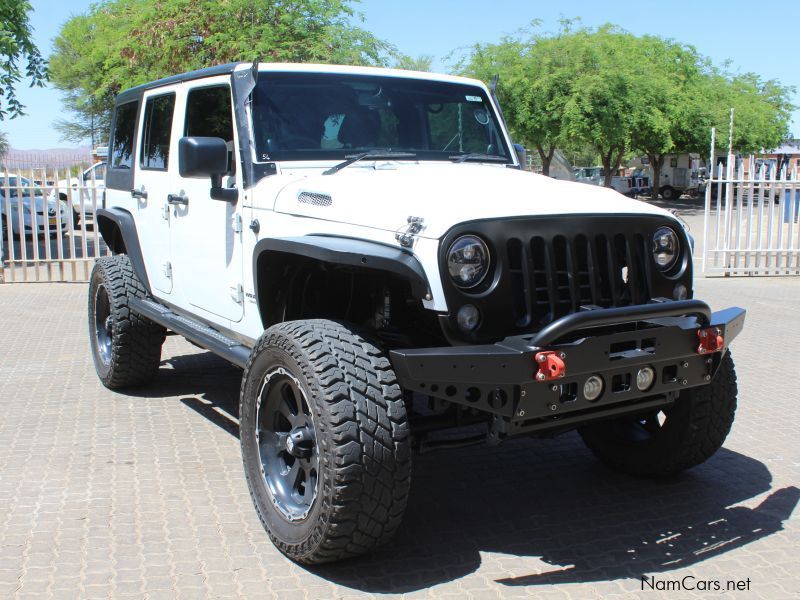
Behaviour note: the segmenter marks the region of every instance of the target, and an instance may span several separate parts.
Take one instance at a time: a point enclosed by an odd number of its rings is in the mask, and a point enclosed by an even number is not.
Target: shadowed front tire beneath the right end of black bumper
[[[736,413],[736,371],[730,352],[711,383],[681,392],[656,433],[633,440],[635,419],[614,419],[580,429],[583,441],[609,467],[640,477],[664,477],[697,466],[725,441]]]

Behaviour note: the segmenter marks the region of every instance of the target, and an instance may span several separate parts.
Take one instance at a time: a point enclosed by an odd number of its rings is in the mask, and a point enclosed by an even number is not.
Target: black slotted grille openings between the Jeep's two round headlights
[[[651,298],[640,234],[510,238],[516,323],[543,325],[582,306],[630,306]]]

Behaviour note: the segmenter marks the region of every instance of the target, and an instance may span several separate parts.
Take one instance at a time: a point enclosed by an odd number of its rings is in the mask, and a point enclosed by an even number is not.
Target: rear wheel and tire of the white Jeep
[[[101,286],[110,304],[112,334],[107,362],[100,353],[95,318]],[[133,312],[129,304],[131,298],[146,296],[127,255],[97,260],[89,284],[89,340],[97,375],[109,389],[144,385],[158,372],[166,330]]]

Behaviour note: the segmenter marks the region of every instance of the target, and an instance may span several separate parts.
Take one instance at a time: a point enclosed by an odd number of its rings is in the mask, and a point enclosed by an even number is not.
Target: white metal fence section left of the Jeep
[[[0,172],[0,283],[88,281],[109,254],[95,226],[104,182],[79,167]]]

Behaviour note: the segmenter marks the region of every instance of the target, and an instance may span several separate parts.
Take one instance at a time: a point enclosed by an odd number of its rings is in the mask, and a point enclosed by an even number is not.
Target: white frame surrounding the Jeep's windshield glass
[[[464,155],[468,154],[475,154],[474,152],[470,152],[468,150],[458,151],[453,149],[446,149],[446,150],[431,150],[431,149],[423,149],[423,148],[414,148],[414,147],[406,147],[403,145],[392,146],[391,148],[387,148],[386,146],[382,145],[375,145],[375,146],[356,146],[356,147],[342,147],[342,148],[330,148],[330,149],[310,149],[310,150],[288,150],[283,152],[265,152],[265,148],[260,147],[260,143],[257,141],[259,137],[259,131],[256,128],[256,114],[255,111],[260,110],[258,107],[258,90],[261,85],[265,83],[268,85],[267,82],[274,81],[276,78],[280,79],[291,79],[293,77],[338,77],[345,80],[358,80],[362,79],[365,83],[367,82],[375,82],[376,80],[388,80],[389,82],[397,82],[401,80],[408,80],[409,84],[413,84],[414,82],[421,83],[422,85],[431,86],[431,85],[443,85],[443,86],[453,86],[454,88],[461,88],[459,89],[459,93],[464,94],[465,96],[479,96],[481,99],[481,106],[486,110],[490,122],[494,124],[494,133],[496,136],[496,143],[498,146],[497,151],[502,152],[502,154],[497,154],[496,159],[487,160],[485,164],[492,164],[495,166],[506,166],[506,167],[518,167],[518,159],[517,154],[514,149],[514,145],[511,141],[509,133],[505,127],[505,122],[500,114],[499,108],[496,104],[496,99],[493,94],[489,92],[485,85],[480,82],[473,82],[469,80],[464,81],[454,81],[449,78],[437,78],[437,77],[413,77],[408,76],[405,73],[397,73],[387,70],[387,72],[380,72],[376,71],[376,73],[363,73],[363,72],[350,72],[350,71],[338,71],[338,70],[331,70],[331,71],[306,71],[306,70],[298,70],[298,71],[284,71],[284,70],[261,70],[259,71],[258,83],[253,90],[253,97],[252,101],[247,103],[247,121],[250,129],[251,139],[253,140],[250,144],[250,153],[251,153],[251,160],[255,165],[266,165],[270,163],[340,163],[348,158],[362,153],[362,152],[380,152],[380,151],[395,151],[395,152],[403,152],[403,153],[413,153],[415,156],[413,158],[400,158],[398,160],[408,160],[413,162],[421,162],[421,161],[431,161],[431,162],[438,162],[438,163],[447,163],[447,162],[454,162],[454,159],[459,158]],[[466,104],[465,104],[466,105]],[[428,132],[430,135],[430,131]],[[468,162],[482,162],[480,160],[477,161],[468,161]]]

